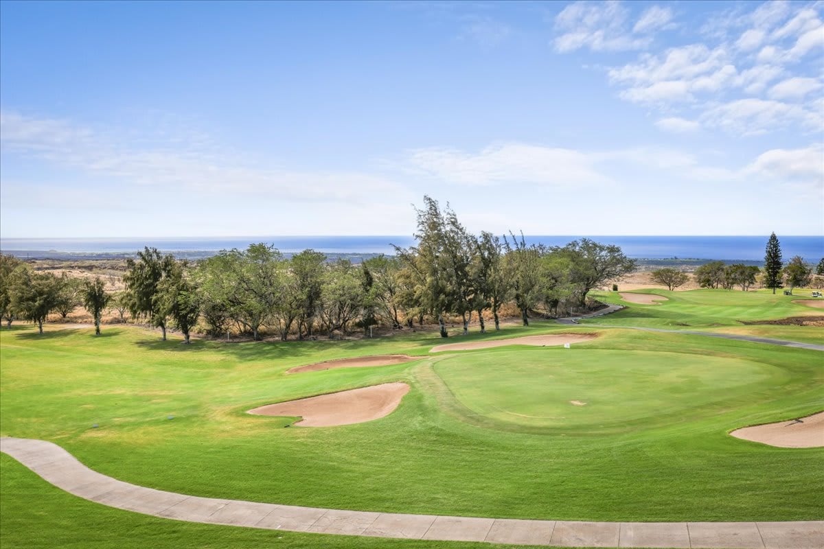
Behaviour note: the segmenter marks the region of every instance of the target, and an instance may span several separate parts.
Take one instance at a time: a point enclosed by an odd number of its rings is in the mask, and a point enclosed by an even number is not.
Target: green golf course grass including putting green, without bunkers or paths
[[[822,345],[818,326],[759,323],[820,319],[794,302],[808,291],[640,291],[666,298],[648,305],[593,293],[625,309],[447,340],[557,336],[463,351],[432,352],[435,331],[187,346],[134,326],[96,337],[16,324],[0,333],[0,435],[58,444],[119,481],[227,500],[499,519],[824,519],[824,433],[808,448],[730,435],[822,412],[822,351],[680,333]],[[340,360],[361,356],[388,363]],[[372,421],[247,413],[383,384],[404,388]],[[489,547],[159,519],[0,459],[2,547]]]

